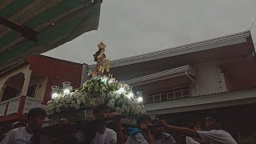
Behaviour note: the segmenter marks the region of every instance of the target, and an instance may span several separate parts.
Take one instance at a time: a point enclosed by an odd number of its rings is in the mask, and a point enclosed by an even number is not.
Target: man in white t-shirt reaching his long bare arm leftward
[[[206,117],[206,128],[209,131],[196,131],[178,126],[171,126],[168,125],[164,120],[158,122],[158,125],[164,126],[166,129],[174,132],[185,134],[186,136],[202,138],[204,141],[212,144],[237,144],[237,142],[235,142],[234,138],[232,138],[228,132],[222,130],[222,122],[214,114],[209,114]]]

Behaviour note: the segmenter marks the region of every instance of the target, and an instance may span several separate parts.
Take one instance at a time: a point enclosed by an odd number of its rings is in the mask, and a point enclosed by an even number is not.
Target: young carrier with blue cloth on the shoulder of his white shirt
[[[147,114],[142,114],[136,119],[138,128],[129,128],[128,137],[126,144],[154,144],[150,129],[147,126],[151,124],[151,118]]]

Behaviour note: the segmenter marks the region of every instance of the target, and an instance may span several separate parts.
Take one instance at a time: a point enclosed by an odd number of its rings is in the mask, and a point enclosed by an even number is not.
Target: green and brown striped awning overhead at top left
[[[100,0],[0,0],[1,18],[38,32],[38,41],[34,42],[17,31],[1,25],[0,68],[21,62],[28,55],[41,54],[54,49],[90,30],[97,30],[101,2]]]

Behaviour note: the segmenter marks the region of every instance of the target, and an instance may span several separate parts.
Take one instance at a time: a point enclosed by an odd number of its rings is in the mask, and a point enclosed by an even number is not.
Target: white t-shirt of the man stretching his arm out
[[[212,144],[238,144],[225,130],[198,131],[198,134]]]

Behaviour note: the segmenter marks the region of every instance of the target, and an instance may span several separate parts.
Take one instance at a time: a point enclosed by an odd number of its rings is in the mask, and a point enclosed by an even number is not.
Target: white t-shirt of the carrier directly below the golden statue
[[[104,134],[99,134],[98,132],[96,133],[95,138],[91,144],[116,144],[117,141],[117,133],[114,132],[114,130],[106,128]]]

